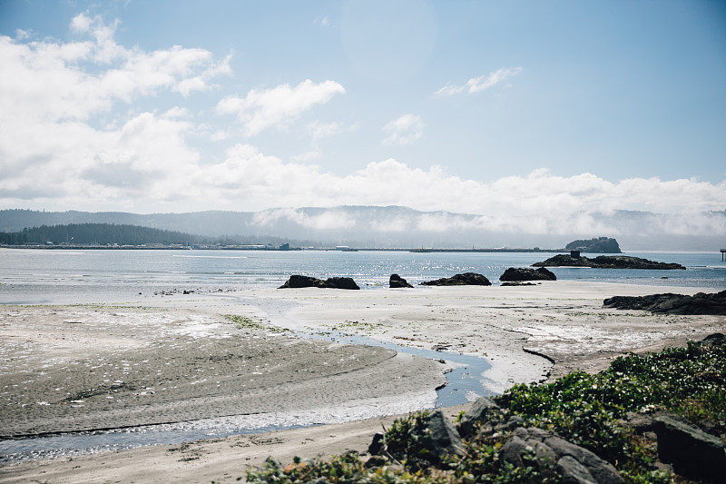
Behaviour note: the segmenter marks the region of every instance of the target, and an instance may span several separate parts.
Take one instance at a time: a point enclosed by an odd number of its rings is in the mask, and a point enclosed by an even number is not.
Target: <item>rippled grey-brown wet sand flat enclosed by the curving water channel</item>
[[[3,438],[361,400],[369,415],[395,413],[433,406],[445,381],[437,361],[190,310],[5,307],[0,334]]]

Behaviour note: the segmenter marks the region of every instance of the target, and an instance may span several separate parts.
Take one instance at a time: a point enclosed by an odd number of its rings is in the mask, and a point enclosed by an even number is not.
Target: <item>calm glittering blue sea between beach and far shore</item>
[[[352,277],[364,290],[388,287],[397,273],[416,285],[460,272],[493,283],[508,267],[544,261],[532,252],[123,251],[0,250],[0,303],[118,301],[153,291],[274,288],[291,274]],[[637,252],[686,271],[553,268],[560,280],[726,289],[720,252]]]

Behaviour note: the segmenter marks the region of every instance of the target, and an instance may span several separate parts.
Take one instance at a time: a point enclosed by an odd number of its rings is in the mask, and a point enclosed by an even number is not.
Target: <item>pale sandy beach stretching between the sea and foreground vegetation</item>
[[[441,360],[448,352],[483,357],[492,368],[482,380],[500,392],[572,370],[602,370],[629,351],[680,346],[726,330],[721,316],[603,308],[603,299],[614,295],[657,292],[663,288],[563,281],[3,306],[4,437],[240,415],[340,423],[33,460],[0,468],[0,482],[233,482],[268,456],[285,461],[363,451],[395,414],[432,408],[450,367],[380,347],[301,339],[294,335],[299,331],[434,349]]]

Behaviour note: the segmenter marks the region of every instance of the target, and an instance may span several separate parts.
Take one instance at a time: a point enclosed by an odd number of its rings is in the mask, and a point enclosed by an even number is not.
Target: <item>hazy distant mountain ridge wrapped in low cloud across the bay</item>
[[[421,212],[401,206],[279,208],[260,212],[38,212],[0,210],[0,232],[41,225],[116,223],[206,237],[274,239],[359,248],[563,248],[607,235],[624,251],[716,251],[726,246],[726,211],[700,214],[576,212],[505,217]]]

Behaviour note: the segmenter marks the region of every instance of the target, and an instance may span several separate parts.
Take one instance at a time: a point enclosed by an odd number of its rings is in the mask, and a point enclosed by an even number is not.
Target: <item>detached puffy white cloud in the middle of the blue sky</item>
[[[291,87],[281,84],[272,89],[252,89],[247,96],[228,96],[217,104],[218,114],[236,114],[245,131],[252,136],[272,126],[285,126],[316,104],[326,104],[345,88],[335,81],[315,84],[309,79]]]

